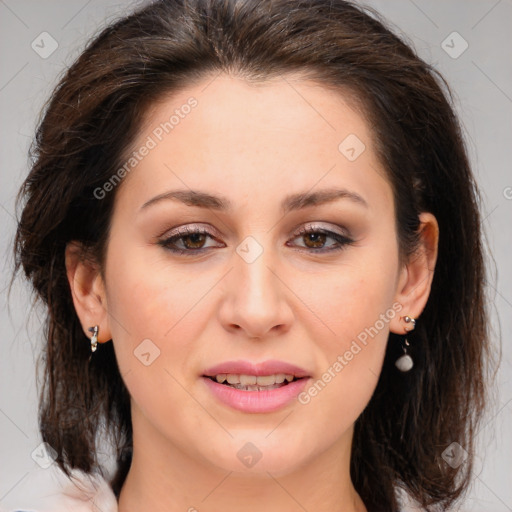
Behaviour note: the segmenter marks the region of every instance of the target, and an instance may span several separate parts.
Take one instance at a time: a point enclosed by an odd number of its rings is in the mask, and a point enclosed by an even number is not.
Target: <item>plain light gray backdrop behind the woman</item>
[[[503,341],[499,389],[480,432],[476,475],[461,510],[512,511],[512,2],[366,3],[436,66],[456,93],[455,106],[483,193],[483,227],[495,260],[488,285],[496,353],[500,331]],[[0,0],[1,510],[19,505],[21,497],[34,492],[34,486],[42,485],[53,470],[42,469],[31,457],[41,442],[35,375],[41,311],[31,308],[28,287],[20,279],[9,301],[6,295],[12,269],[14,198],[28,170],[27,150],[36,120],[57,77],[79,55],[91,34],[134,5],[137,3],[113,0]],[[447,39],[454,31],[460,36]],[[40,36],[42,32],[51,34],[58,44],[49,56],[44,53],[52,49],[52,41]],[[37,51],[31,46],[33,41],[34,46],[39,45]],[[458,55],[464,41],[468,48]],[[47,480],[47,485],[55,485]]]

